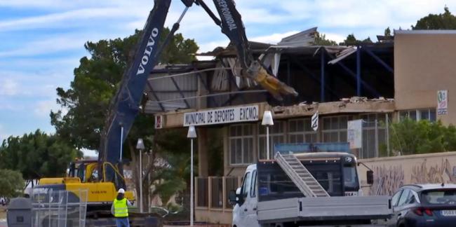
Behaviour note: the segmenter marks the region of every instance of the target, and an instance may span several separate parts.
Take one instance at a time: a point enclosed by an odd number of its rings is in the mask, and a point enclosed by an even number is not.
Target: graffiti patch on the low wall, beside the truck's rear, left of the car
[[[374,171],[374,184],[370,187],[369,195],[392,195],[394,191],[404,184],[404,171],[401,165],[376,166]]]

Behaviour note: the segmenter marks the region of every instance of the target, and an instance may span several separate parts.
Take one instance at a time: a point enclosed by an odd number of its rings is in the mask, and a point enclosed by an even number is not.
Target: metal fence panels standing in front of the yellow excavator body
[[[31,198],[34,227],[84,227],[86,224],[86,190],[34,188]]]

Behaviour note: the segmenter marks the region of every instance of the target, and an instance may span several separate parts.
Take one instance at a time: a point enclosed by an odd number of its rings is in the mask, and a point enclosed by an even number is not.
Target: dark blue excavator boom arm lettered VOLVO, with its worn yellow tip
[[[133,125],[135,117],[138,115],[147,78],[152,69],[154,69],[161,50],[167,44],[167,41],[159,43],[159,39],[171,0],[155,0],[154,2],[154,8],[147,18],[147,23],[136,48],[133,63],[123,75],[119,90],[116,92],[109,108],[100,142],[99,163],[107,162],[112,163],[112,165],[121,163],[122,144]],[[222,28],[222,32],[228,36],[236,47],[238,60],[243,68],[243,76],[252,78],[278,99],[281,99],[281,95],[297,95],[293,88],[269,75],[267,70],[262,67],[262,64],[253,59],[241,15],[236,10],[233,0],[213,0],[215,8],[217,8],[217,12],[220,15],[220,20],[209,10],[203,0],[182,0],[182,2],[187,8],[192,6],[193,3],[202,6],[215,23]],[[187,8],[185,11],[187,11]],[[179,22],[181,19],[182,16]],[[173,26],[170,35],[173,35],[177,28],[178,22]],[[169,37],[166,40],[168,39]],[[114,181],[115,171],[105,170],[105,172],[105,177],[100,177],[102,178],[100,180]]]

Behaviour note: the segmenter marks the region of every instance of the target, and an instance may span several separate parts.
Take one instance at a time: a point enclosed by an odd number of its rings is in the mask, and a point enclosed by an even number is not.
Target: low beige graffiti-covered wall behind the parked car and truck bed
[[[413,156],[371,158],[358,160],[374,171],[374,184],[363,188],[365,195],[375,195],[379,188],[380,195],[392,195],[404,184],[441,184],[456,183],[456,152],[428,153]],[[360,165],[358,174],[361,185],[366,186],[366,171]]]

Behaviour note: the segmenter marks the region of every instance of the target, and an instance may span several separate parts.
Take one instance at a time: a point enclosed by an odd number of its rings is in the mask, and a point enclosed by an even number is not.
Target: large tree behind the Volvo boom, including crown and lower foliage
[[[78,148],[99,148],[100,133],[105,126],[109,102],[119,87],[123,71],[126,70],[133,59],[133,50],[140,39],[140,33],[140,31],[136,31],[135,34],[125,39],[86,43],[85,48],[90,57],[82,57],[79,67],[74,69],[74,80],[71,83],[71,88],[68,90],[57,89],[58,104],[68,109],[66,115],[63,115],[60,111],[51,112],[51,123],[55,126],[56,132],[60,137],[67,139]],[[161,43],[163,43],[168,33],[169,29],[163,29],[160,37]],[[190,63],[196,60],[194,54],[197,50],[198,46],[193,39],[184,39],[182,34],[176,34],[170,40],[168,46],[164,48],[159,62],[170,64]],[[166,149],[166,146],[156,145],[156,143],[160,143],[161,137],[157,135],[152,139],[155,131],[154,119],[151,116],[140,113],[135,118],[133,127],[123,146],[123,156],[129,157],[131,160],[133,181],[137,191],[140,181],[143,182],[144,190],[142,191],[144,198],[147,198],[151,184],[159,184],[160,182],[161,184],[166,184],[168,182],[168,188],[166,186],[158,187],[159,192],[163,193],[163,195],[174,193],[176,190],[179,191],[182,186],[187,186],[185,183],[181,184],[185,181],[185,179],[182,179],[183,174],[169,174],[169,172],[176,172],[182,167],[189,167],[188,163],[184,162],[184,160],[189,160],[189,146],[183,146],[188,144],[188,139],[185,138],[185,132],[177,132],[181,136],[166,137],[166,139],[169,140],[169,143],[180,146],[180,149],[182,147],[187,149],[185,153],[176,152],[176,149]],[[166,131],[166,133],[177,132],[173,130]],[[152,150],[151,164],[144,168],[145,174],[142,179],[138,177],[138,151],[135,149],[138,138],[145,139],[147,150]],[[163,149],[162,147],[165,148]],[[163,161],[159,160],[166,161],[163,164]],[[149,178],[151,179],[150,181]],[[143,205],[147,207],[147,204],[148,201],[145,200]]]

